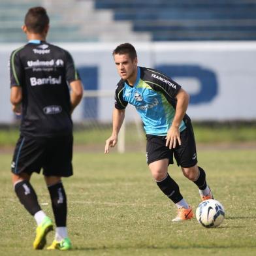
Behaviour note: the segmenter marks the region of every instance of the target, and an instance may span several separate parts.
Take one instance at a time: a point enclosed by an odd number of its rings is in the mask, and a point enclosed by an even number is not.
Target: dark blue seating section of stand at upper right
[[[256,40],[255,0],[95,0],[152,40]]]

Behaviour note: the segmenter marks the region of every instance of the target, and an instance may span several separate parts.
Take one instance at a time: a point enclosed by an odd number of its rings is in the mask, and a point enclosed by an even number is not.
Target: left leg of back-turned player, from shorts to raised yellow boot
[[[17,142],[12,161],[12,184],[14,191],[27,212],[37,221],[35,249],[46,244],[46,234],[53,229],[52,221],[40,208],[37,194],[29,182],[33,171],[40,171],[42,147],[31,138],[20,138]]]

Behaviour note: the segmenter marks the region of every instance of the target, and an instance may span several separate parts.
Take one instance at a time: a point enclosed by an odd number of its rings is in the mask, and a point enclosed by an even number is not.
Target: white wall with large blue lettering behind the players
[[[85,98],[74,121],[111,121],[114,89],[120,80],[112,50],[117,43],[62,44],[71,52],[84,89],[109,91],[106,97]],[[255,42],[134,43],[138,63],[165,72],[191,95],[187,114],[193,120],[256,120]],[[0,45],[0,123],[12,123],[8,57],[17,44]],[[89,111],[87,111],[89,110]],[[127,119],[133,119],[133,114]]]

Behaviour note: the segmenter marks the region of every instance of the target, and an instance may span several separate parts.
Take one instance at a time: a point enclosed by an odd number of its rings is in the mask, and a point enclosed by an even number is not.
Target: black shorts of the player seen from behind
[[[14,150],[11,170],[14,174],[25,172],[45,176],[68,177],[72,172],[73,136],[27,137],[20,136]]]

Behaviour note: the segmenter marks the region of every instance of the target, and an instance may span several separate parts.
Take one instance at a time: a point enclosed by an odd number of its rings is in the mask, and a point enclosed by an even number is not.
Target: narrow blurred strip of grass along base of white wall
[[[76,129],[74,126],[74,143],[95,145],[104,144],[112,132],[111,125],[99,126],[94,124],[87,129]],[[142,128],[142,127],[141,127]],[[251,125],[223,125],[217,123],[215,125],[200,125],[195,123],[194,131],[197,143],[212,144],[212,143],[239,143],[239,142],[253,142],[256,143],[255,124]],[[138,133],[139,130],[139,133]],[[141,132],[140,127],[135,125],[128,125],[126,131],[127,145],[139,146],[142,144],[144,149],[144,133]],[[0,129],[0,147],[14,146],[19,136],[18,129]]]

